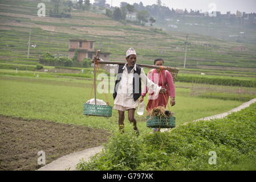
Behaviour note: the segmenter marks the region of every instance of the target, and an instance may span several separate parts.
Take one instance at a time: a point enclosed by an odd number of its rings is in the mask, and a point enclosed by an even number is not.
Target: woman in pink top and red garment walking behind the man
[[[156,59],[154,61],[156,66],[163,66],[164,65],[164,60],[161,58]],[[173,78],[172,75],[170,74],[169,71],[162,70],[160,71],[159,69],[152,69],[151,71],[148,72],[148,78],[151,79],[153,82],[158,84],[159,86],[162,86],[162,88],[166,89],[165,93],[159,93],[159,96],[154,99],[154,93],[149,94],[149,101],[146,110],[152,110],[155,107],[158,106],[164,106],[168,104],[169,96],[170,96],[170,105],[174,106],[175,105],[175,86],[173,83]],[[157,79],[158,80],[155,80]],[[143,102],[144,97],[146,96],[148,92],[147,86],[145,86],[143,93],[141,94],[140,102]],[[160,131],[160,129],[154,129],[154,131]]]

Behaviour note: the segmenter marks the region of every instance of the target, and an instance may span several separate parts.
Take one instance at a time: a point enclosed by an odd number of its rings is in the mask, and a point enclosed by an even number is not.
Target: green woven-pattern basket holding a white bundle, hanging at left
[[[84,115],[111,117],[112,116],[112,106],[84,104]]]

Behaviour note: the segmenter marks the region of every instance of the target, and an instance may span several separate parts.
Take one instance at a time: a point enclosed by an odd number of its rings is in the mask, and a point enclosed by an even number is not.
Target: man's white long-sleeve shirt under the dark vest
[[[104,61],[101,59],[101,61]],[[118,73],[119,65],[118,64],[99,64],[99,68],[103,68],[108,72],[115,72]],[[115,105],[120,105],[123,107],[130,107],[136,108],[138,105],[139,100],[133,100],[133,73],[134,70],[136,71],[136,64],[134,65],[132,71],[128,73],[127,71],[127,64],[123,67],[124,71],[121,76],[121,80],[118,85],[117,95],[114,101]],[[141,73],[139,75],[143,84],[147,85],[156,96],[159,94],[161,90],[161,86],[158,86],[145,75],[144,69],[141,68]]]

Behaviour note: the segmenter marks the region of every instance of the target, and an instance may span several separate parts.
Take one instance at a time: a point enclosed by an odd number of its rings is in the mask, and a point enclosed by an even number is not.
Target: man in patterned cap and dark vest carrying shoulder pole
[[[128,111],[128,120],[133,123],[133,130],[139,135],[137,128],[137,121],[135,119],[135,110],[141,96],[141,81],[147,85],[156,96],[159,93],[164,93],[166,89],[158,86],[148,79],[143,68],[136,65],[137,55],[133,48],[129,48],[126,52],[127,63],[125,65],[119,64],[99,64],[99,68],[103,68],[108,72],[115,71],[117,79],[115,82],[115,90],[113,92],[114,107],[119,114],[119,130],[124,130],[124,112]],[[94,57],[97,64],[97,57]],[[101,62],[104,60],[100,59]]]

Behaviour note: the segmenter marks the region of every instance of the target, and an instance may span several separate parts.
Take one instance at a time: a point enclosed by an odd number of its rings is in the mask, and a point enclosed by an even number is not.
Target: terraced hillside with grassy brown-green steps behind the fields
[[[99,12],[71,11],[72,18],[52,18],[53,7],[46,5],[46,17],[38,17],[35,0],[0,1],[0,62],[36,64],[43,52],[68,53],[69,39],[95,40],[95,48],[111,52],[111,60],[124,60],[129,47],[135,47],[140,63],[152,64],[156,57],[165,64],[182,67],[186,34],[164,32],[157,28],[122,24]],[[27,59],[27,43],[31,30],[30,58]],[[235,46],[246,46],[247,51],[232,51]],[[256,71],[256,47],[253,44],[225,42],[210,36],[189,35],[187,68],[233,69]]]

